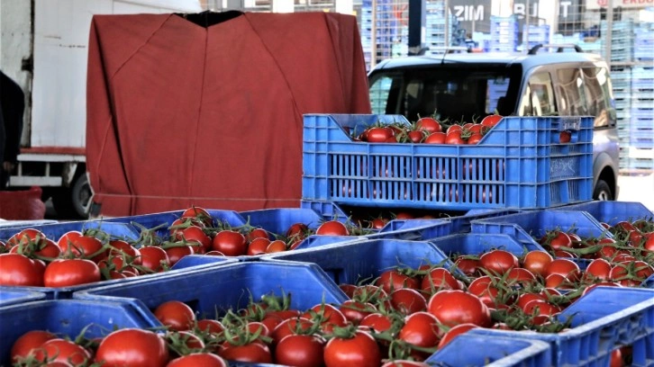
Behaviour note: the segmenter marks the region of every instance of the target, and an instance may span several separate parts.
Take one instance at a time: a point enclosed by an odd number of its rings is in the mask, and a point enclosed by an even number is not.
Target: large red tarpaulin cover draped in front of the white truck
[[[298,207],[304,113],[369,113],[354,16],[95,15],[86,166],[106,216]]]

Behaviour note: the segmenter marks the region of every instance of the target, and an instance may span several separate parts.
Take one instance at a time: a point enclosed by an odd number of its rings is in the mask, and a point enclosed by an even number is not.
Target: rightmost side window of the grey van
[[[611,94],[608,78],[608,71],[603,67],[584,67],[584,85],[588,103],[588,113],[595,116],[595,128],[609,126],[609,108],[611,106]]]

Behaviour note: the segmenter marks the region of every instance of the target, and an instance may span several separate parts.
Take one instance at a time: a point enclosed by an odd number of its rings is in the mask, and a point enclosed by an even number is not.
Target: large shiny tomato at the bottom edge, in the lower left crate
[[[149,330],[123,328],[104,337],[95,362],[103,367],[159,367],[168,363],[168,355],[163,337]]]

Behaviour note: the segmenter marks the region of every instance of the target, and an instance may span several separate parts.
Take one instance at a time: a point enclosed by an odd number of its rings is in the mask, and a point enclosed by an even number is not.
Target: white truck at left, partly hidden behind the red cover
[[[41,186],[61,218],[86,218],[86,59],[91,18],[199,13],[198,0],[2,0],[0,69],[23,88],[25,113],[13,187]]]

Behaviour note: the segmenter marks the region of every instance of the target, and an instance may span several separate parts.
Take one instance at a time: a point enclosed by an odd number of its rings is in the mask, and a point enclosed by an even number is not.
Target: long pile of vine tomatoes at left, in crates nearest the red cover
[[[158,234],[159,227],[141,228],[133,241],[100,229],[71,230],[59,238],[34,228],[20,230],[6,243],[0,241],[0,285],[69,287],[167,271],[186,255],[262,255],[295,249],[312,234],[362,233],[337,220],[315,230],[295,223],[283,235],[250,225],[231,228],[214,223],[200,207],[184,210],[166,227],[167,236]]]

